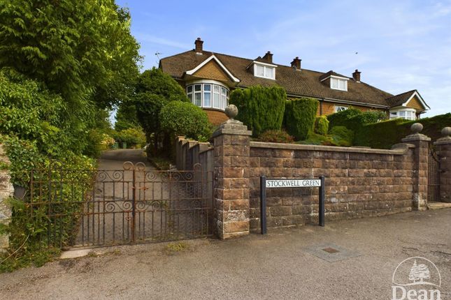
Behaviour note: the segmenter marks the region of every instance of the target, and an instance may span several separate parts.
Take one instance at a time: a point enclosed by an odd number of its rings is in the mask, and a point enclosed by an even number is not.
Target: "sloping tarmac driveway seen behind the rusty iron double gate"
[[[126,162],[133,163],[136,172]],[[198,195],[201,181],[190,175],[155,170],[141,149],[104,152],[79,220],[76,247],[128,243],[133,236],[167,241],[207,234],[211,224],[203,214],[206,210],[196,209],[205,202]]]

